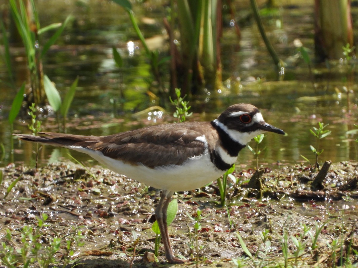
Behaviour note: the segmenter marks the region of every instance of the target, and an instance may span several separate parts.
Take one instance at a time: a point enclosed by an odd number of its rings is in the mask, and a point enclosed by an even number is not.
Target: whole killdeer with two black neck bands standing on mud
[[[161,189],[155,217],[165,256],[170,263],[183,263],[173,254],[166,224],[173,193],[197,189],[220,177],[240,150],[265,131],[285,134],[267,124],[255,106],[235,104],[211,122],[153,125],[102,137],[50,132],[14,135],[86,153],[117,173]]]

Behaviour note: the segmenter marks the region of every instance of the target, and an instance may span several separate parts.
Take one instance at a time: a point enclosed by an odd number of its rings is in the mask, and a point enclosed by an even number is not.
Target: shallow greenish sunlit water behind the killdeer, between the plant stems
[[[297,38],[308,47],[313,57],[313,6],[310,1],[282,1],[279,18],[265,19],[267,33],[281,59],[286,62],[285,74],[276,81],[278,71],[264,47],[255,23],[248,19],[241,25],[242,40],[238,43],[235,31],[226,22],[222,39],[223,88],[207,89],[203,95],[193,98],[190,104],[194,116],[188,120],[212,120],[228,105],[252,103],[263,113],[270,124],[283,129],[287,137],[269,133],[260,148],[266,147],[260,155],[261,164],[272,167],[280,163],[303,161],[301,154],[314,163],[310,145],[317,147],[317,140],[309,129],[318,126],[319,121],[329,124],[332,134],[320,141],[324,149],[320,161],[357,160],[356,137],[345,133],[357,124],[357,86],[355,69],[350,83],[344,82],[347,75],[344,62],[313,64],[314,79],[310,78],[308,68],[297,55],[293,41]],[[45,5],[46,3],[46,5]],[[165,35],[161,19],[165,6],[156,2],[134,5],[140,18],[140,27],[150,39],[152,47],[166,50]],[[133,116],[158,103],[150,103],[146,94],[150,69],[141,53],[141,45],[136,41],[127,15],[118,6],[108,2],[38,1],[40,21],[43,26],[63,21],[72,12],[74,20],[64,31],[63,36],[53,46],[44,59],[44,71],[56,83],[62,95],[72,81],[79,76],[78,90],[69,111],[67,133],[83,135],[108,135],[153,123],[153,115]],[[238,5],[241,5],[239,3]],[[61,10],[61,12],[58,12]],[[247,7],[240,6],[238,17],[249,14]],[[352,10],[353,16],[357,10]],[[354,17],[355,18],[355,17]],[[150,20],[150,19],[153,19]],[[282,28],[277,27],[277,23]],[[298,26],[297,26],[298,25]],[[357,29],[357,28],[355,28]],[[130,56],[127,44],[134,41],[134,55]],[[111,59],[111,46],[117,46],[124,57],[124,68],[117,68]],[[136,47],[137,46],[137,47]],[[16,85],[26,77],[25,58],[21,48],[11,48],[14,56],[13,67]],[[164,54],[163,54],[164,56]],[[6,69],[0,63],[0,79],[6,79]],[[168,82],[168,75],[164,76]],[[315,83],[315,90],[314,85]],[[352,91],[349,94],[349,108],[344,86]],[[15,93],[6,85],[0,88],[0,137],[5,146],[5,157],[0,165],[10,162],[10,127],[7,123],[8,111]],[[111,99],[116,100],[116,113],[113,113]],[[50,108],[49,108],[50,109]],[[157,118],[156,123],[171,122],[172,111]],[[114,117],[116,114],[116,117]],[[20,119],[14,125],[17,133],[29,133],[28,118]],[[50,112],[43,121],[43,131],[58,131],[55,115]],[[15,141],[14,162],[32,165],[31,144]],[[255,147],[254,142],[250,143]],[[72,153],[80,161],[87,156]],[[67,150],[47,147],[40,152],[42,163],[48,159],[66,157]],[[239,157],[238,164],[255,166],[252,153],[246,148]]]

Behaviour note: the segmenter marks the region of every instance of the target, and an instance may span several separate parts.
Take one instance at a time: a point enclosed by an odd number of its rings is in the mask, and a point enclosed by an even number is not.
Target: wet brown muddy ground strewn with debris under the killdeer
[[[76,263],[83,263],[78,264],[78,268],[130,267],[131,260],[133,267],[173,266],[165,262],[163,247],[159,250],[160,262],[152,262],[151,254],[145,253],[154,250],[155,234],[151,225],[155,220],[153,213],[159,200],[158,190],[102,167],[87,170],[69,162],[38,170],[10,164],[1,170],[0,240],[7,245],[15,249],[23,246],[19,231],[25,225],[39,230],[39,242],[44,247],[53,237],[66,241],[76,237],[80,230],[83,237],[79,240],[84,245],[72,243],[74,254],[71,259],[76,262],[68,267]],[[216,183],[200,190],[176,194],[178,213],[169,228],[171,243],[174,253],[188,260],[188,263],[176,266],[234,267],[232,259],[239,260],[244,267],[249,264],[253,267],[284,265],[282,239],[285,231],[288,232],[290,265],[333,266],[339,260],[339,254],[344,254],[347,243],[350,262],[357,263],[354,250],[358,250],[358,163],[335,163],[329,170],[320,189],[312,191],[310,184],[317,172],[312,172],[310,168],[302,165],[275,170],[266,168],[262,175],[262,198],[258,198],[258,190],[247,188],[247,180],[254,170],[237,168],[234,175],[238,182],[228,180],[227,204],[231,226],[226,208],[218,205]],[[11,183],[18,178],[4,198]],[[188,214],[195,217],[198,208],[205,218],[200,221],[201,229],[196,237],[194,222]],[[38,227],[38,218],[43,213],[49,217],[45,226]],[[311,227],[313,235],[316,226],[324,225],[319,231],[318,248],[315,250],[310,248],[310,235],[306,233],[300,237],[303,224]],[[11,232],[11,241],[5,238],[6,229]],[[270,240],[270,244],[262,243],[261,234],[265,230],[265,241]],[[134,258],[132,231],[139,238]],[[257,262],[244,252],[237,233]],[[300,253],[296,252],[291,236],[305,243]],[[202,247],[198,254],[199,262],[196,261],[196,238],[199,247]],[[343,247],[333,250],[329,245],[336,239]],[[190,249],[191,245],[194,248]],[[55,254],[60,266],[66,255],[64,248],[62,245]],[[258,253],[257,256],[255,253]],[[0,254],[3,257],[4,250]],[[20,264],[19,259],[17,265]]]

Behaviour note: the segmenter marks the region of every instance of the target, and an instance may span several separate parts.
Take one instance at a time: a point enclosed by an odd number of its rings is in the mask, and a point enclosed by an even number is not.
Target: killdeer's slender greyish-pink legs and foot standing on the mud
[[[159,203],[155,209],[155,218],[158,222],[161,239],[164,245],[165,257],[170,263],[184,263],[183,260],[174,257],[173,250],[170,245],[168,226],[166,224],[166,211],[171,200],[173,192],[163,190],[160,194]]]

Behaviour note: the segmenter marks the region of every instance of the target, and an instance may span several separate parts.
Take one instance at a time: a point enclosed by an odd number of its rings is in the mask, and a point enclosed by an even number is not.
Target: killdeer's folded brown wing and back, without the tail
[[[207,145],[197,138],[203,135],[199,129],[205,127],[211,128],[210,123],[149,126],[101,137],[92,149],[131,164],[141,163],[148,167],[179,165],[204,153]]]

